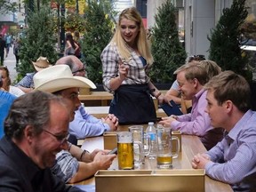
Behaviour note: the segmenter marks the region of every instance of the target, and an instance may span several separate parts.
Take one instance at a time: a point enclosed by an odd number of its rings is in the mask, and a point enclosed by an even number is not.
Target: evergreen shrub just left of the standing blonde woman
[[[113,23],[109,12],[105,9],[108,1],[96,0],[88,4],[85,12],[85,33],[82,40],[82,52],[87,64],[86,71],[89,79],[95,84],[102,84],[102,64],[100,54],[109,43],[112,36]]]

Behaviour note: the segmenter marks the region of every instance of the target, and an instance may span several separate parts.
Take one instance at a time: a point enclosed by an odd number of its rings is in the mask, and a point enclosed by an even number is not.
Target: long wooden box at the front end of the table
[[[204,170],[125,170],[95,173],[96,191],[204,192]]]

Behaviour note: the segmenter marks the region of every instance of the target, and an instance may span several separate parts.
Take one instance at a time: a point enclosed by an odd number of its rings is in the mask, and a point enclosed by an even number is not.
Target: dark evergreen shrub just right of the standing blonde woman
[[[177,10],[167,0],[158,8],[153,29],[152,54],[154,64],[150,77],[154,83],[170,84],[175,80],[173,72],[185,63],[187,53],[180,44],[176,20]]]

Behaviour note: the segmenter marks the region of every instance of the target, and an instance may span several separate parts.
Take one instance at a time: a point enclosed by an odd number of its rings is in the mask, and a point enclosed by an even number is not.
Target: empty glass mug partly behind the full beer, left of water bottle
[[[142,125],[132,125],[129,132],[132,132],[133,138],[133,153],[134,153],[134,166],[140,167],[145,162],[144,156],[144,129]]]

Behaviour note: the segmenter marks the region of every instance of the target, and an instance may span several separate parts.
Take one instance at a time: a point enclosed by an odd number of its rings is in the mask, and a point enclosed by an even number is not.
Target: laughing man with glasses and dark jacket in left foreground
[[[67,145],[69,114],[67,103],[50,93],[29,92],[14,100],[0,140],[0,191],[82,191],[50,170]]]

